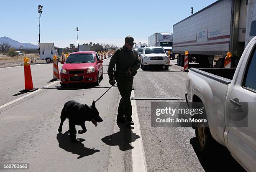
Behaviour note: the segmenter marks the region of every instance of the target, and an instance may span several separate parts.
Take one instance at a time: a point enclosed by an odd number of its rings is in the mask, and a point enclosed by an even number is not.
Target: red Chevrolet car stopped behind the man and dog
[[[60,84],[95,83],[103,79],[103,61],[95,51],[78,51],[71,53],[60,70]]]

